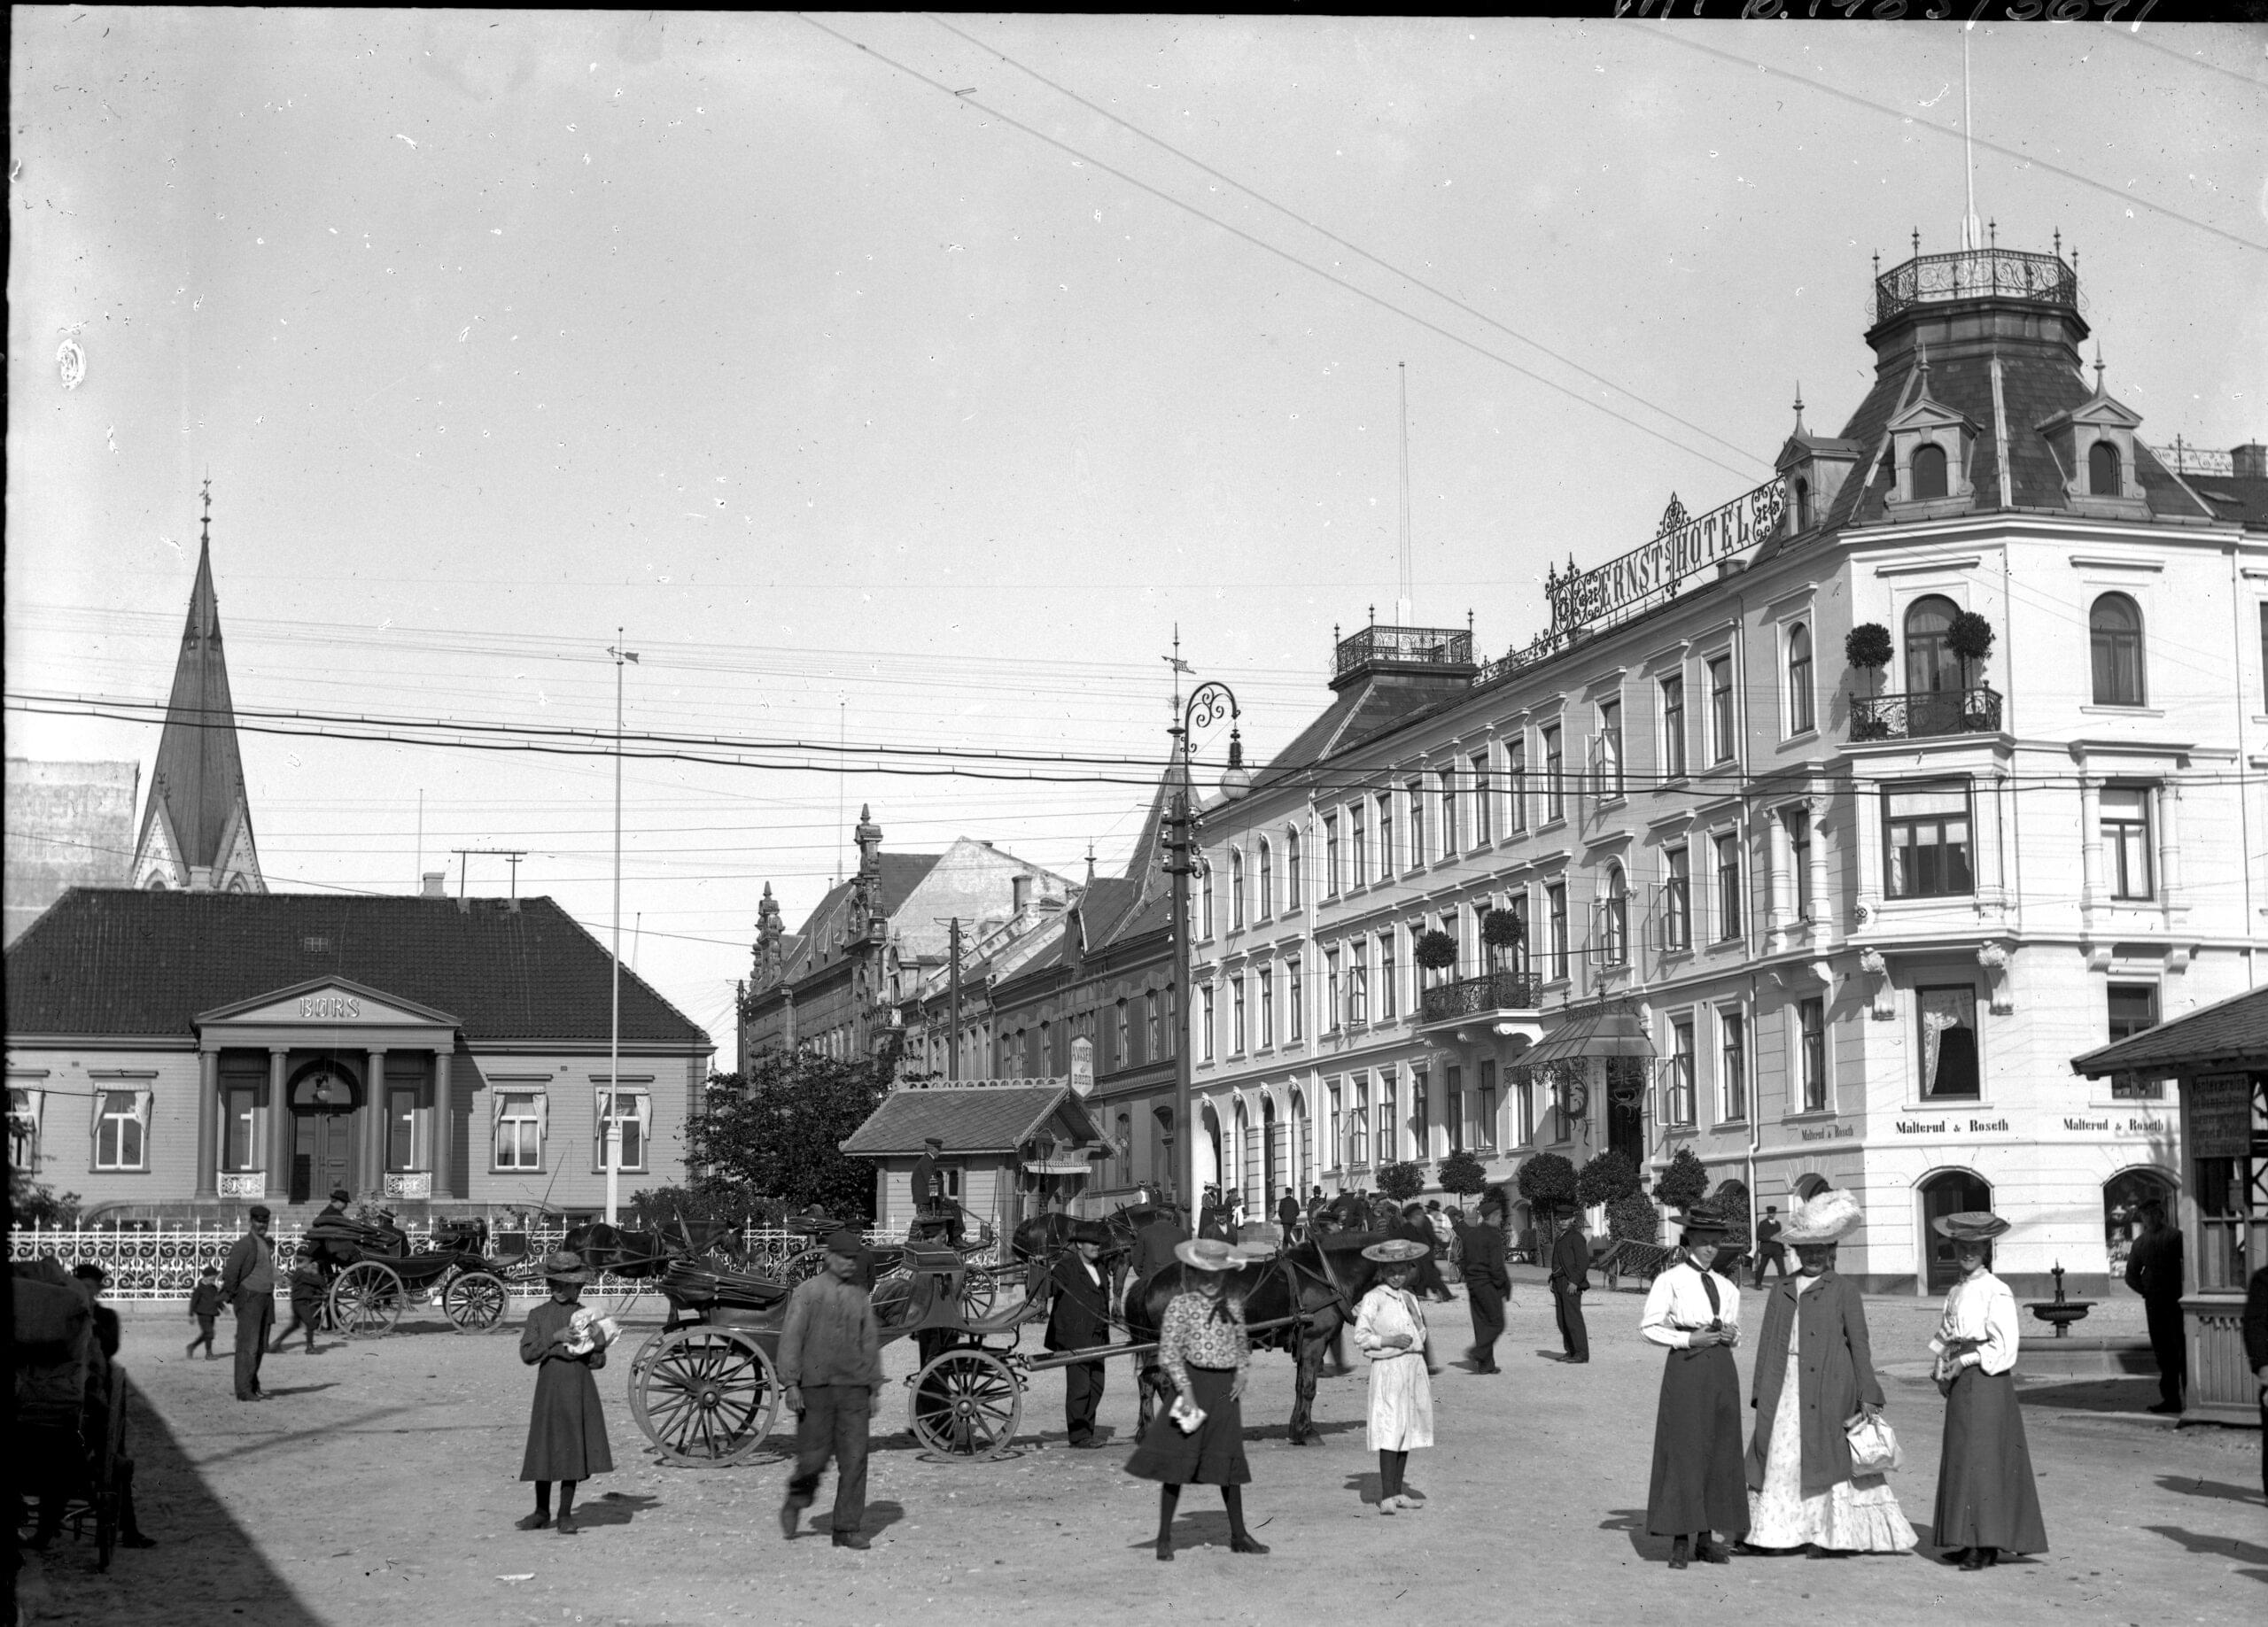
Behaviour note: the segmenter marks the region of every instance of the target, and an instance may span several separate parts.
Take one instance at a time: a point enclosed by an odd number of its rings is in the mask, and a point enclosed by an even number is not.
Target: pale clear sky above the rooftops
[[[270,886],[524,850],[606,940],[619,678],[624,961],[730,1065],[862,804],[1120,872],[1177,634],[1266,759],[1395,619],[1404,442],[1411,619],[1526,644],[1842,426],[1971,177],[2146,440],[2268,437],[2263,39],[16,9],[7,750],[147,786],[211,480]]]

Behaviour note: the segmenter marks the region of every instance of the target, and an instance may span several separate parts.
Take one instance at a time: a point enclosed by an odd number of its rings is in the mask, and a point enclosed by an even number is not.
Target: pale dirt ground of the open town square
[[[1755,1307],[1749,1296],[1749,1307]],[[928,1462],[885,1394],[869,1475],[871,1552],[796,1543],[773,1520],[785,1466],[662,1468],[624,1398],[628,1362],[601,1375],[612,1475],[583,1493],[581,1536],[515,1532],[528,1371],[510,1330],[465,1337],[404,1326],[272,1355],[272,1400],[238,1405],[229,1362],[188,1362],[181,1319],[129,1317],[141,1389],[129,1450],[141,1518],[161,1545],[95,1575],[91,1543],[27,1554],[23,1620],[111,1627],[259,1622],[762,1620],[862,1622],[1318,1622],[1393,1618],[1685,1622],[2259,1622],[2268,1618],[2261,1437],[2175,1430],[2139,1407],[2150,1380],[2028,1380],[2025,1428],[2053,1552],[1962,1575],[1926,1557],[1735,1559],[1672,1573],[1644,1525],[1660,1355],[1637,1337],[1633,1292],[1590,1296],[1594,1355],[1556,1357],[1551,1305],[1526,1280],[1499,1346],[1501,1378],[1458,1364],[1463,1303],[1431,1310],[1440,1446],[1411,1459],[1424,1514],[1381,1516],[1363,1448],[1365,1380],[1322,1382],[1322,1446],[1284,1441],[1290,1364],[1261,1357],[1245,1423],[1247,1509],[1268,1557],[1232,1557],[1216,1493],[1182,1498],[1173,1566],[1150,1557],[1154,1489],[1120,1471],[1134,1385],[1109,1375],[1111,1450],[1070,1453],[1061,1378],[1036,1378],[1016,1455]],[[2121,1307],[2105,1330],[2121,1332]],[[1935,1307],[1869,1301],[1889,1416],[1907,1448],[1892,1477],[1928,1539],[1941,1403],[1926,1380]],[[2139,1319],[2134,1319],[2139,1321]],[[2093,1328],[2089,1328],[2093,1330]],[[227,1332],[222,1332],[222,1344]],[[1025,1348],[1036,1348],[1030,1332]],[[1749,1351],[1742,1351],[1746,1382]],[[889,1371],[912,1371],[907,1344]],[[1926,1550],[1928,1552],[1928,1550]]]

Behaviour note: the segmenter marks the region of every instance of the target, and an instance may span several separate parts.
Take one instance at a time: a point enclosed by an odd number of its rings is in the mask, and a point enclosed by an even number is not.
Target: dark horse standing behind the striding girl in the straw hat
[[[1293,1360],[1297,1389],[1290,1403],[1290,1443],[1322,1439],[1315,1430],[1315,1378],[1322,1357],[1354,1326],[1354,1307],[1377,1280],[1379,1267],[1363,1249],[1383,1242],[1383,1233],[1343,1230],[1293,1244],[1275,1260],[1229,1271],[1229,1294],[1243,1301],[1245,1323],[1281,1321],[1252,1335],[1254,1351],[1284,1351]],[[1182,1292],[1188,1267],[1175,1262],[1139,1283],[1127,1294],[1127,1335],[1141,1344],[1157,1339],[1166,1305]],[[1166,1371],[1157,1360],[1141,1369],[1141,1430],[1166,1400]]]

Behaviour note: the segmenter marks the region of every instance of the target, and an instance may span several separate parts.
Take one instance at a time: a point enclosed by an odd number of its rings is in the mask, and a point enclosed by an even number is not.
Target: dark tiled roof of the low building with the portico
[[[549,897],[73,888],[7,952],[9,1033],[179,1036],[197,1013],[340,977],[454,1013],[467,1040],[608,1038],[606,947]],[[708,1049],[628,968],[621,1038]]]

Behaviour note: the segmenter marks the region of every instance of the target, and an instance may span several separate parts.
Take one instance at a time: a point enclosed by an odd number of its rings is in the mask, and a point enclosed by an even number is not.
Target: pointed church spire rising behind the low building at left
[[[213,594],[213,492],[204,489],[204,523],[197,537],[197,582],[188,591],[188,625],[181,659],[172,668],[166,732],[156,743],[156,773],[134,845],[134,875],[145,881],[152,834],[170,847],[177,886],[225,886],[222,872],[245,875],[265,891],[252,850],[252,809],[245,802],[245,766],[236,752],[236,705],[229,698],[229,664],[220,648],[220,598]]]

